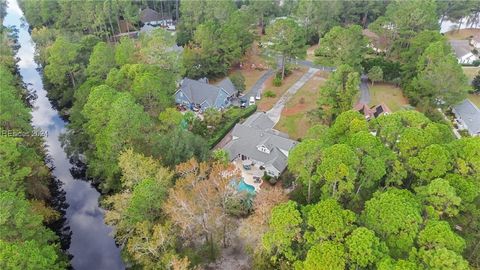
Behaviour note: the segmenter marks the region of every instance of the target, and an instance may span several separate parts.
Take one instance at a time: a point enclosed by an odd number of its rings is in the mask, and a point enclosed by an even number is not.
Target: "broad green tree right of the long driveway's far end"
[[[362,27],[335,26],[321,39],[315,56],[323,65],[348,65],[359,70],[366,52],[367,39],[362,34]]]

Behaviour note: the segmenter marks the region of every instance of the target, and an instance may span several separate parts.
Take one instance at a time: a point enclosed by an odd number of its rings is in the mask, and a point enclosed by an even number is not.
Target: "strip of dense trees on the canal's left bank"
[[[1,26],[0,35],[0,268],[64,269],[67,257],[52,230],[62,223],[61,193],[45,164],[41,132],[30,125],[32,96],[14,58],[16,30]]]

